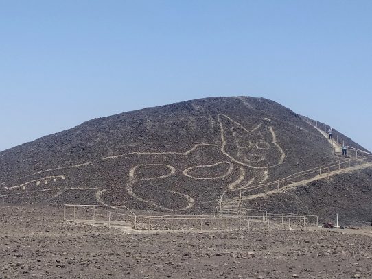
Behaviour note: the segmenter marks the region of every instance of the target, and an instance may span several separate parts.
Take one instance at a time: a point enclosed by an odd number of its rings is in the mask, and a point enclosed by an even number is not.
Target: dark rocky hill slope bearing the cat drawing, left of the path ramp
[[[226,189],[334,160],[327,139],[275,101],[197,99],[93,119],[0,152],[0,201],[210,213]]]

